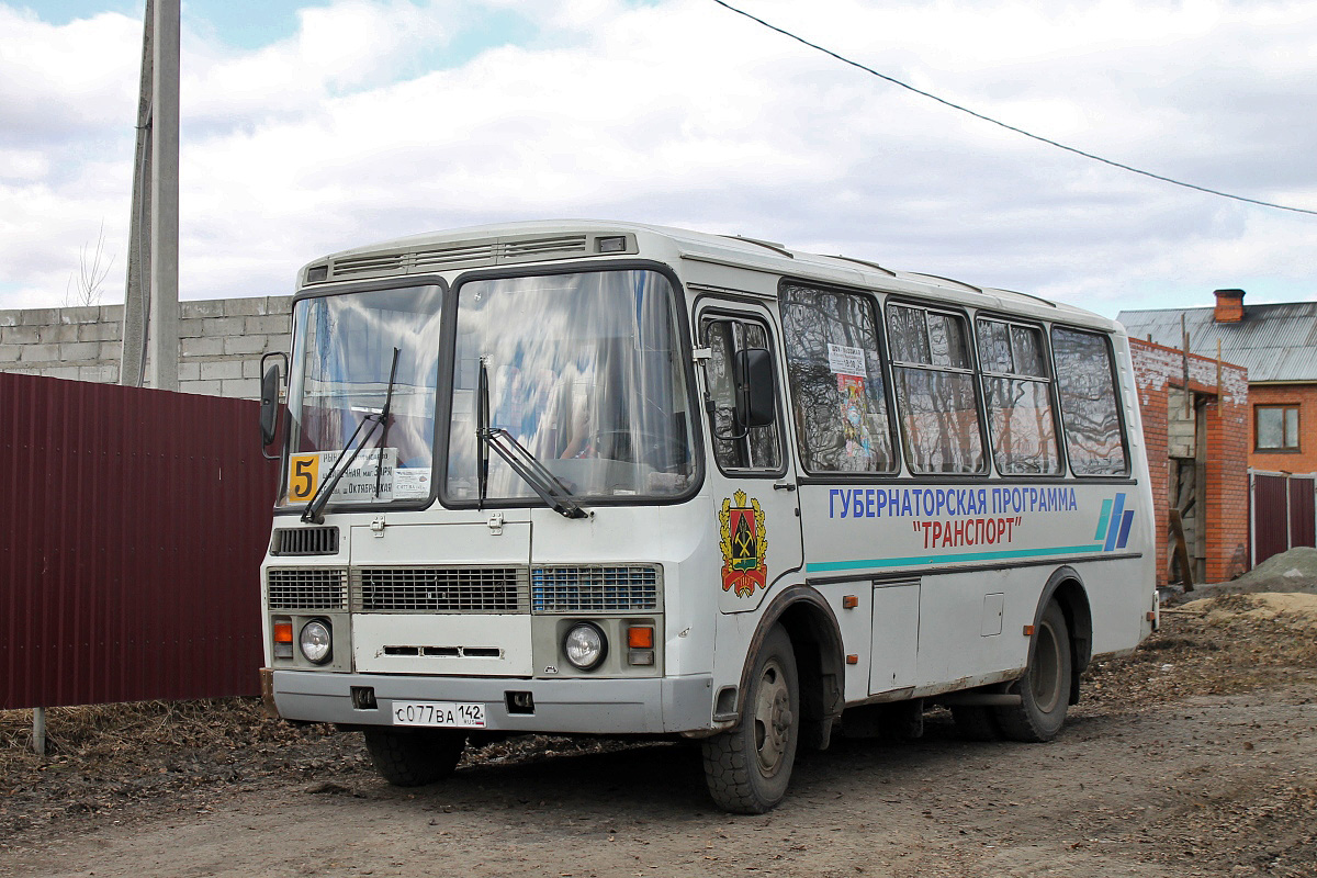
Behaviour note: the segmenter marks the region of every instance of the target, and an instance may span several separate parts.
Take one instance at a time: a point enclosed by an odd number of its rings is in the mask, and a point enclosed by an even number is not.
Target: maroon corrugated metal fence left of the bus
[[[259,691],[257,403],[0,374],[0,708]]]

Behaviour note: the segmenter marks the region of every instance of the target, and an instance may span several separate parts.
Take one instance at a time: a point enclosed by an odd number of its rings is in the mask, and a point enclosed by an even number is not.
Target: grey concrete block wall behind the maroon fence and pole
[[[179,303],[178,386],[233,399],[261,395],[261,357],[288,351],[291,297]],[[124,307],[0,311],[0,373],[119,382]]]

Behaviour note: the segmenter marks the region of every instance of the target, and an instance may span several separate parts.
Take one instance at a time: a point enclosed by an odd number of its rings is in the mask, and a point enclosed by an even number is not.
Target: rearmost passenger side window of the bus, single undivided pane
[[[1075,475],[1125,475],[1129,465],[1106,340],[1054,326],[1052,355],[1071,470]]]

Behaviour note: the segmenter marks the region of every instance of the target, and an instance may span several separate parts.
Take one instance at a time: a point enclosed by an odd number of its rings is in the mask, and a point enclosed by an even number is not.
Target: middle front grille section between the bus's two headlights
[[[527,612],[525,567],[357,567],[353,612]]]

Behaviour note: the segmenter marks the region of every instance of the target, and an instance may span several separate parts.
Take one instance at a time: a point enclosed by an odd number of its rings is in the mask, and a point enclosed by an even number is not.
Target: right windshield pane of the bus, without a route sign
[[[446,496],[478,498],[477,388],[506,430],[577,498],[672,498],[697,478],[673,290],[656,271],[473,280],[457,294]],[[533,488],[489,459],[486,499]]]

